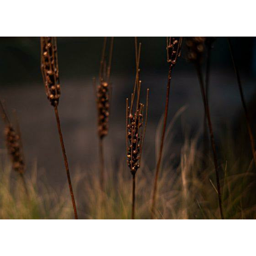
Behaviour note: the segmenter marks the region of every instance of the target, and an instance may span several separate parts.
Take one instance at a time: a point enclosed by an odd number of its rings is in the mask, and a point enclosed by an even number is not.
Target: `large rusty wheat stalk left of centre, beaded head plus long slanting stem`
[[[51,105],[54,107],[55,117],[57,121],[57,127],[59,132],[59,140],[62,148],[64,164],[67,172],[69,190],[74,208],[75,219],[77,217],[77,211],[75,206],[75,197],[73,193],[71,178],[69,174],[68,159],[64,147],[63,136],[60,128],[58,104],[60,97],[60,84],[59,84],[59,67],[58,67],[58,53],[56,37],[41,37],[41,70],[43,76],[43,82],[45,85],[46,95]]]

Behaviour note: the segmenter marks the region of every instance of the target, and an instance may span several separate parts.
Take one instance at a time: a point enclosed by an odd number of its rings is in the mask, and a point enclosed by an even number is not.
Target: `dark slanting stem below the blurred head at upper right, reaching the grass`
[[[206,117],[208,120],[208,129],[209,129],[210,139],[211,139],[211,144],[212,144],[212,149],[213,149],[213,161],[214,161],[214,166],[215,166],[218,199],[219,199],[219,212],[220,212],[221,219],[224,219],[224,215],[223,215],[223,211],[222,211],[221,194],[220,194],[220,184],[219,184],[219,167],[218,167],[218,161],[217,161],[217,152],[216,152],[216,146],[215,146],[215,141],[214,141],[214,136],[213,136],[213,127],[212,127],[212,122],[211,122],[211,117],[210,117],[210,111],[209,111],[208,101],[206,98],[206,93],[204,90],[203,75],[201,72],[201,68],[200,68],[199,64],[196,64],[195,66],[197,69],[197,76],[198,76],[201,94],[202,94],[202,98],[203,98],[204,111],[205,111],[205,114],[206,114]]]

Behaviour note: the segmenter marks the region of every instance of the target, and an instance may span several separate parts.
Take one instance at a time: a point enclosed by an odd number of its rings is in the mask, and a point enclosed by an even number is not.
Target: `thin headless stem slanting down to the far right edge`
[[[255,167],[256,167],[256,152],[255,152],[254,137],[253,137],[253,134],[252,134],[252,131],[251,131],[250,118],[249,118],[249,114],[248,114],[248,110],[247,110],[247,106],[246,106],[246,102],[245,102],[245,97],[244,97],[244,92],[243,92],[242,83],[241,83],[241,79],[240,79],[240,74],[239,74],[235,59],[234,59],[234,51],[233,51],[233,47],[232,47],[232,44],[231,44],[230,37],[227,37],[227,39],[228,39],[228,43],[229,43],[229,50],[230,50],[230,55],[231,55],[233,67],[234,67],[234,70],[235,70],[237,84],[238,84],[239,91],[240,91],[241,101],[242,101],[242,105],[243,105],[243,108],[244,108],[244,111],[245,111],[246,125],[247,125],[247,130],[248,130],[248,133],[249,133],[249,137],[250,137],[250,143],[251,143],[251,153],[252,153],[254,164],[255,164]]]

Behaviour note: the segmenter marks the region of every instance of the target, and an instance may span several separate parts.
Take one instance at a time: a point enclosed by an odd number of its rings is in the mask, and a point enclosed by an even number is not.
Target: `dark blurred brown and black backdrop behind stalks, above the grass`
[[[138,37],[138,40],[142,43],[143,99],[146,88],[150,89],[143,157],[153,170],[155,132],[165,106],[166,39]],[[231,37],[231,40],[255,131],[256,39]],[[58,37],[57,42],[62,91],[59,115],[72,176],[76,168],[97,170],[96,103],[92,78],[98,78],[103,37]],[[169,121],[182,106],[187,109],[174,126],[170,155],[179,154],[185,134],[194,136],[203,132],[203,103],[195,69],[184,58],[185,48],[183,44],[181,58],[173,70]],[[247,136],[244,134],[246,129],[241,128],[245,126],[245,117],[225,37],[217,37],[214,43],[210,72],[209,101],[217,145],[226,133],[235,139]],[[130,97],[134,79],[134,38],[115,37],[110,130],[105,139],[108,163],[119,163],[125,158],[125,98]],[[27,175],[36,161],[38,170],[43,171],[50,182],[63,186],[66,174],[53,107],[46,98],[41,76],[39,37],[0,37],[0,98],[5,100],[10,116],[12,109],[18,113]],[[0,124],[3,130],[4,123],[1,121]],[[237,143],[239,147],[239,140]],[[0,146],[5,148],[3,136],[0,136]],[[247,149],[250,154],[249,144],[241,150]]]

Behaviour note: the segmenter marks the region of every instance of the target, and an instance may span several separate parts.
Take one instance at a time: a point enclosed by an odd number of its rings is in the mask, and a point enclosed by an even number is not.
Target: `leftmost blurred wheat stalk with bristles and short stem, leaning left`
[[[12,168],[16,172],[18,172],[19,175],[21,176],[21,180],[22,180],[25,192],[27,196],[29,196],[28,190],[27,190],[27,183],[24,178],[25,162],[24,162],[21,132],[18,125],[18,119],[16,117],[16,129],[15,129],[5,111],[5,107],[2,101],[0,101],[0,108],[2,111],[2,118],[5,122],[5,143],[6,143],[8,154],[11,157]]]

